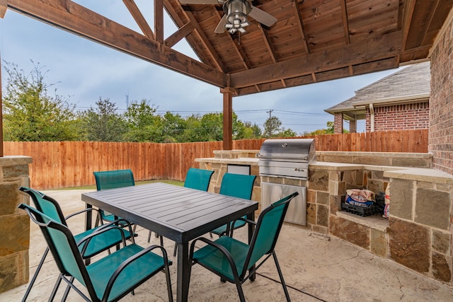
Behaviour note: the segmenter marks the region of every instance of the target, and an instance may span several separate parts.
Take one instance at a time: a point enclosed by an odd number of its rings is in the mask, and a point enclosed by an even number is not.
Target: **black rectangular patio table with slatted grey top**
[[[84,193],[86,207],[96,206],[127,221],[159,233],[178,244],[177,301],[187,301],[190,263],[189,241],[247,216],[253,220],[258,202],[226,195],[193,190],[187,187],[153,182]],[[91,228],[87,211],[86,229]],[[251,239],[253,226],[248,227]]]

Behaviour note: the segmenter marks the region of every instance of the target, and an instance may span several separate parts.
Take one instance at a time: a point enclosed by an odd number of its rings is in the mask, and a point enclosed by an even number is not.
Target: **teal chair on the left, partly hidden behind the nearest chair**
[[[42,192],[39,192],[37,190],[30,189],[28,187],[21,187],[19,188],[21,192],[27,193],[32,201],[33,204],[35,204],[35,207],[38,209],[38,211],[41,211],[45,215],[49,216],[53,220],[57,221],[58,223],[61,223],[64,226],[67,226],[67,219],[76,216],[78,214],[84,214],[86,211],[97,211],[98,216],[101,216],[99,211],[97,209],[84,209],[82,211],[77,211],[76,213],[70,214],[69,216],[64,216],[62,208],[59,206],[58,202],[53,199],[52,197],[49,197],[45,195]],[[119,221],[119,220],[118,220]],[[74,236],[76,241],[81,240],[81,238],[85,238],[86,236],[90,235],[94,231],[98,231],[101,228],[106,228],[110,226],[112,223],[116,223],[117,221],[112,221],[111,223],[108,224],[103,224],[101,226],[98,226],[96,228],[92,228],[91,230],[84,231],[82,233],[79,233]],[[127,223],[124,221],[124,223]],[[127,231],[125,228],[122,228],[123,230],[123,235],[126,239],[132,238],[132,229],[129,226],[129,231]],[[105,233],[102,236],[98,236],[95,239],[91,240],[90,243],[84,247],[84,245],[81,245],[79,250],[81,252],[81,249],[84,248],[84,252],[81,254],[81,257],[83,259],[89,259],[93,257],[94,255],[98,255],[100,252],[104,252],[105,250],[109,250],[115,245],[118,245],[122,242],[122,235],[120,233]],[[30,284],[28,285],[27,290],[25,291],[25,294],[23,296],[22,301],[26,301],[28,298],[28,295],[30,294],[30,291],[33,287],[33,284],[35,284],[36,278],[38,277],[38,274],[40,272],[40,269],[42,265],[45,262],[45,259],[47,257],[47,254],[49,252],[49,248],[46,248],[45,252],[42,254],[40,263],[38,267],[36,268],[35,274],[33,274],[33,277],[30,281]],[[110,252],[110,251],[109,251]]]

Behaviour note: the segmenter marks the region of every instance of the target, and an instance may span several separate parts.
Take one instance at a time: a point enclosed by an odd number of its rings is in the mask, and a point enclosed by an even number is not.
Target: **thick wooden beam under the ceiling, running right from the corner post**
[[[231,74],[231,87],[241,88],[259,83],[304,76],[313,72],[339,69],[349,65],[377,61],[401,53],[401,31],[307,54],[251,70]]]

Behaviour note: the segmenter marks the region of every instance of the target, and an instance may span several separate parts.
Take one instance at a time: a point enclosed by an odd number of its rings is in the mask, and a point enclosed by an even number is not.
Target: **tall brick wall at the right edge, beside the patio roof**
[[[453,174],[453,10],[431,54],[430,129],[428,150],[433,168]]]

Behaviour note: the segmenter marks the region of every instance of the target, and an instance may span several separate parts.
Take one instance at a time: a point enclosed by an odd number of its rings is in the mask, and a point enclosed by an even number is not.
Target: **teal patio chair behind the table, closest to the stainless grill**
[[[224,178],[222,178],[222,184],[220,185],[219,194],[228,195],[231,197],[238,197],[243,199],[251,199],[253,191],[253,182],[255,182],[256,175],[242,175],[242,174],[233,174],[225,173]],[[246,218],[245,216],[243,217]],[[236,228],[241,228],[245,226],[246,223],[241,220],[237,220],[234,225],[229,223],[228,225],[219,226],[218,228],[210,232],[211,238],[212,233],[217,236],[229,235],[232,236],[233,231]],[[229,228],[230,233],[226,234],[227,229]]]

